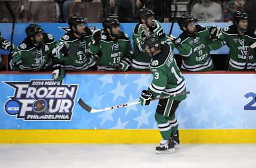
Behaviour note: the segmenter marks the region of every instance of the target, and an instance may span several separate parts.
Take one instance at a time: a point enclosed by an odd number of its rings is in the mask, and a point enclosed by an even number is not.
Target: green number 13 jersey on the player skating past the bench
[[[158,95],[172,95],[186,91],[185,78],[173,57],[173,51],[169,44],[164,43],[162,51],[151,59],[149,70],[153,74],[153,81],[148,91],[156,98]],[[172,100],[181,101],[186,95],[171,97]]]

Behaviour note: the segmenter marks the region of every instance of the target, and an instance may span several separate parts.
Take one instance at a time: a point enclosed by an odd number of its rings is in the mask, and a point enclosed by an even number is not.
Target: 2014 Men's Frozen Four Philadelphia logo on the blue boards
[[[71,120],[78,85],[59,81],[4,82],[13,87],[5,111],[24,120]]]

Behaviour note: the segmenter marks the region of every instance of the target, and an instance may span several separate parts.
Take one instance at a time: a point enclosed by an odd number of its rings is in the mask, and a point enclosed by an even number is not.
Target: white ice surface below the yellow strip
[[[156,144],[0,144],[1,168],[253,168],[256,144],[184,144],[156,154]]]

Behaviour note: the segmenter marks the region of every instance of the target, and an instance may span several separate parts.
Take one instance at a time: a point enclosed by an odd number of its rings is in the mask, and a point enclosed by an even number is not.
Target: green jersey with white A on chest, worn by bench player
[[[55,49],[57,42],[51,34],[44,33],[44,43],[35,46],[29,37],[17,47],[15,52],[21,55],[22,63],[18,66],[10,66],[12,70],[50,70],[52,66],[52,50]]]

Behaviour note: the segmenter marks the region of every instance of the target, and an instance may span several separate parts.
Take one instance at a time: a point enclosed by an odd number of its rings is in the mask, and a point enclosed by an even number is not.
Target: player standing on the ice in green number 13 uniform
[[[140,96],[141,105],[149,105],[150,99],[159,95],[172,95],[186,92],[185,78],[173,57],[172,47],[161,44],[157,35],[145,38],[145,52],[152,58],[149,66],[154,78],[148,90],[143,90]],[[156,147],[157,154],[173,153],[179,148],[178,122],[175,111],[179,103],[186,99],[186,94],[179,97],[159,100],[156,108],[155,119],[163,137],[161,145]]]

